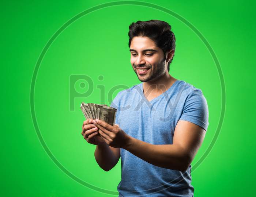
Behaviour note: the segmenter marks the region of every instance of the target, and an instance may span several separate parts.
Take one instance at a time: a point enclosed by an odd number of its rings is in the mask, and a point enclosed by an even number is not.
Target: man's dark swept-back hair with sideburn
[[[163,50],[164,58],[167,51],[174,50],[175,52],[175,35],[171,31],[171,26],[162,20],[138,20],[136,23],[131,23],[129,26],[129,48],[131,46],[132,38],[135,36],[147,36],[155,42],[155,44]],[[174,57],[174,54],[173,54]],[[168,72],[170,70],[170,63],[168,62]]]

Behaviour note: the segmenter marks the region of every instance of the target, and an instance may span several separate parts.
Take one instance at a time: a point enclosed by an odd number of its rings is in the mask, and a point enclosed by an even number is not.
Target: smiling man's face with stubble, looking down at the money
[[[150,38],[134,37],[130,51],[132,68],[140,81],[154,81],[167,72],[163,50]]]

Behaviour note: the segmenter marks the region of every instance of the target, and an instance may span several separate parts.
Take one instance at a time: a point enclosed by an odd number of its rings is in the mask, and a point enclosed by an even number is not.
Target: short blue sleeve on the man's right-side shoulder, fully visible
[[[187,120],[197,124],[207,131],[209,122],[209,112],[206,98],[202,90],[195,89],[187,97],[185,101],[180,120]]]

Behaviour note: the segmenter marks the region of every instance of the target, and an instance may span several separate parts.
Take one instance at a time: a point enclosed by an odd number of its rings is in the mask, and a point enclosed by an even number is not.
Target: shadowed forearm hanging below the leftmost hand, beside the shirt
[[[116,156],[106,143],[96,146],[94,157],[99,167],[105,171],[111,170],[117,163]]]

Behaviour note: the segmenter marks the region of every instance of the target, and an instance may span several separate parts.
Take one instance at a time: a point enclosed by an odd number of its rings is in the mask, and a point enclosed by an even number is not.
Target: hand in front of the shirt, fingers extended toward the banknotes
[[[95,119],[93,120],[99,130],[99,134],[105,140],[105,142],[114,148],[124,148],[127,146],[129,141],[129,135],[127,135],[119,126],[115,124],[114,126],[102,121]]]

